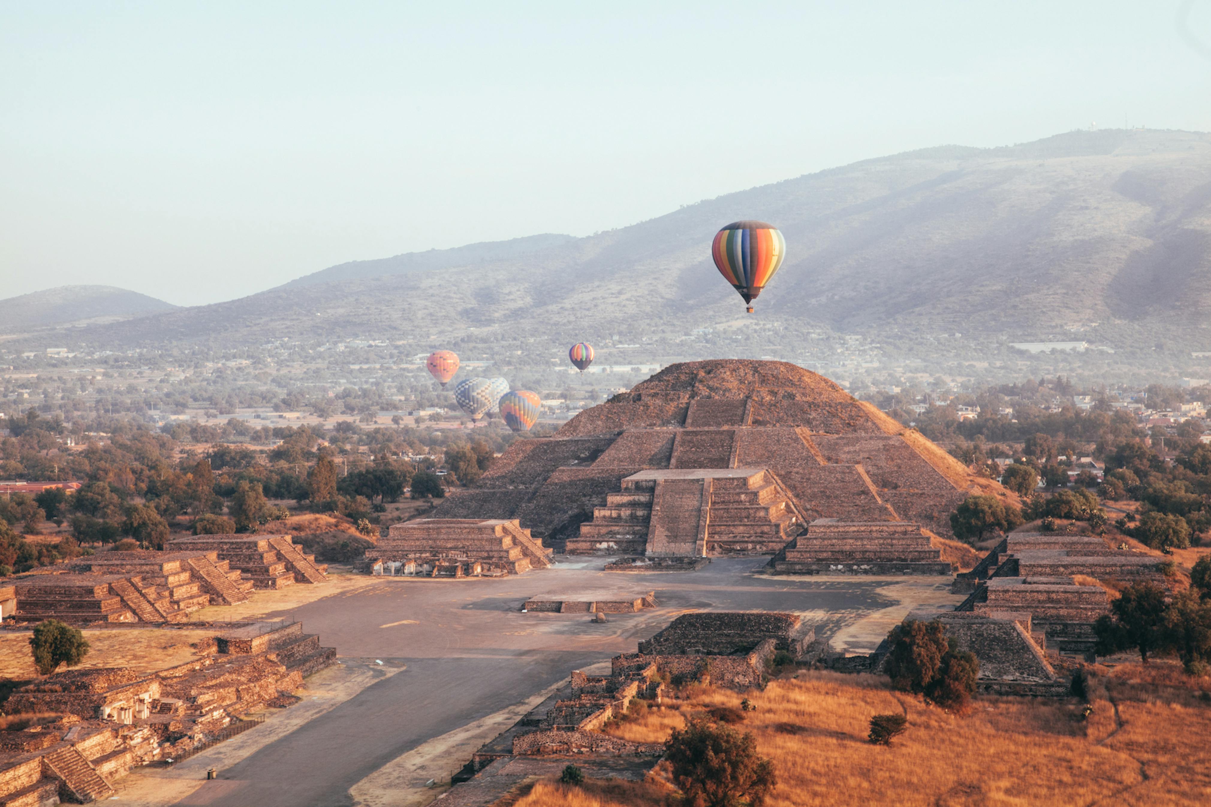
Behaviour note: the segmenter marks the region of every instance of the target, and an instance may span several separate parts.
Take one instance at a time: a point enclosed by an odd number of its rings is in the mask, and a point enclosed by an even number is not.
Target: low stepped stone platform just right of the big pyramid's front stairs
[[[949,575],[918,524],[911,521],[839,521],[816,519],[805,535],[775,555],[781,575]]]

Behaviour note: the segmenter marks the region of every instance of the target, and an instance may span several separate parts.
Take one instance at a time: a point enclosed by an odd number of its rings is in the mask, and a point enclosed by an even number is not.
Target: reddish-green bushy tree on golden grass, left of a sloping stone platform
[[[980,663],[972,653],[954,647],[941,622],[905,619],[888,634],[888,675],[894,687],[924,694],[942,707],[966,707]]]

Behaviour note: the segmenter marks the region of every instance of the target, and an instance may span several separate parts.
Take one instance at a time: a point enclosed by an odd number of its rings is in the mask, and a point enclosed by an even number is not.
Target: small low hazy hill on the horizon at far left
[[[114,286],[61,286],[0,300],[0,333],[128,321],[178,306]]]

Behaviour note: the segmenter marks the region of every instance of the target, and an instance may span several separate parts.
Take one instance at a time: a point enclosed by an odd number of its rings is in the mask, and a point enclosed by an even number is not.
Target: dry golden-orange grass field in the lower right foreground
[[[1146,673],[1138,667],[1123,665],[1100,680],[1100,692],[1118,705],[1095,694],[1087,721],[1075,701],[977,698],[968,714],[955,715],[893,692],[885,679],[802,673],[747,693],[757,711],[741,730],[754,734],[759,753],[776,766],[771,807],[1211,803],[1211,704],[1189,690],[1186,703],[1170,703],[1161,687],[1140,684],[1133,686],[1141,699],[1121,699],[1130,694],[1125,681],[1136,680],[1131,675],[1160,684],[1177,674],[1172,665],[1150,664]],[[619,727],[655,742],[685,714],[735,707],[741,697],[710,690]],[[890,747],[866,742],[871,716],[883,713],[908,716],[908,731]],[[568,803],[581,802],[535,788],[518,806]],[[661,800],[620,803],[656,807]]]

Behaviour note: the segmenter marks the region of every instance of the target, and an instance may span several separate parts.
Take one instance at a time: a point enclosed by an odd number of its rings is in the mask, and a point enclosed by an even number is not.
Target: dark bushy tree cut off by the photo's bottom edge
[[[752,734],[705,717],[673,731],[665,759],[687,805],[759,807],[777,784],[774,763],[757,755]]]

